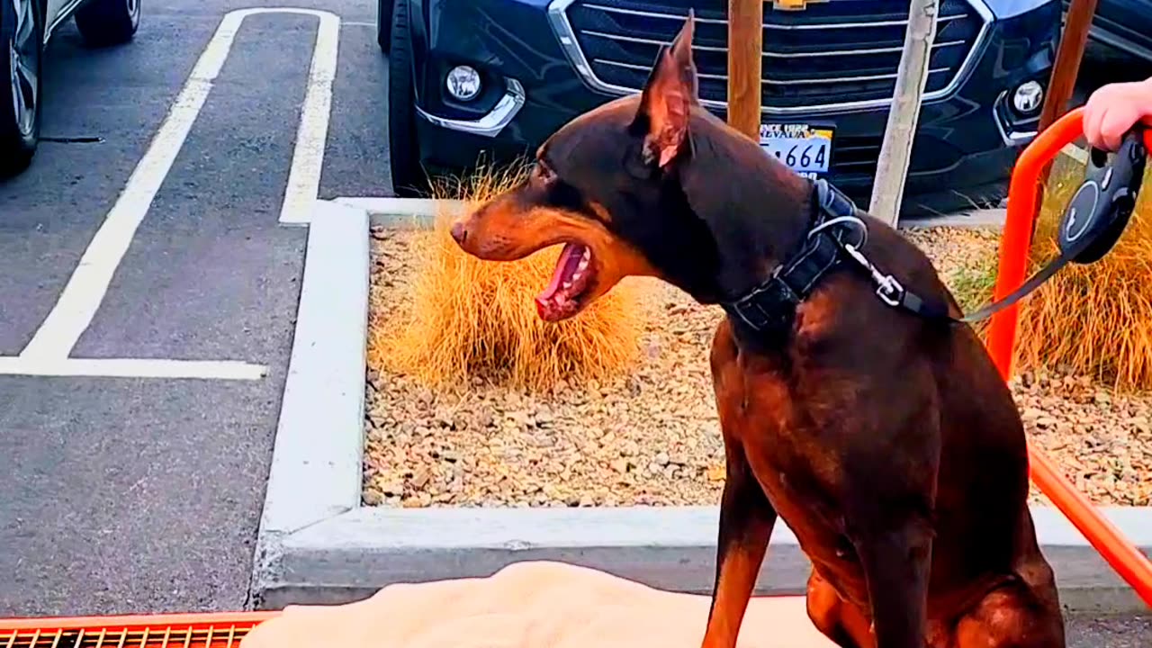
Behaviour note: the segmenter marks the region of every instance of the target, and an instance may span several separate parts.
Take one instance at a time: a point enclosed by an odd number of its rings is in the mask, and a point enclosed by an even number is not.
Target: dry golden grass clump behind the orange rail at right
[[[1060,216],[1083,178],[1083,165],[1053,167],[1032,243],[1029,272],[1060,254]],[[1145,187],[1152,186],[1146,178]],[[1152,197],[1145,191],[1116,246],[1091,265],[1069,264],[1021,302],[1020,370],[1062,369],[1112,383],[1152,389]],[[971,269],[961,292],[992,296],[996,259]],[[957,297],[958,299],[958,297]],[[985,330],[980,327],[982,332]]]

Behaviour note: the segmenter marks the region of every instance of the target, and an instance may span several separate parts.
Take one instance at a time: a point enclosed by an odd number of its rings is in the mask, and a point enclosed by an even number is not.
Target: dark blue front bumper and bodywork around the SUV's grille
[[[574,116],[628,91],[590,74],[563,28],[569,0],[407,1],[425,16],[412,21],[412,39],[417,137],[427,167],[457,171],[530,153]],[[1017,115],[1010,96],[1029,81],[1046,84],[1061,5],[1033,1],[1010,16],[979,0],[972,7],[985,21],[982,33],[954,78],[929,88],[920,112],[905,191],[914,210],[963,203],[960,196],[996,199],[1020,148],[1034,136],[1038,111]],[[462,63],[479,70],[486,88],[468,105],[444,90],[446,73]],[[866,204],[890,101],[786,103],[766,100],[764,121],[833,127],[826,176]],[[722,100],[706,104],[726,116]]]

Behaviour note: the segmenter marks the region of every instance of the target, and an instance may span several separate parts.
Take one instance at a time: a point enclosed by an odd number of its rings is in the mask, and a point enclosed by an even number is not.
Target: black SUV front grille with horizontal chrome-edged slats
[[[979,2],[980,0],[975,0]],[[700,99],[722,107],[728,93],[727,0],[555,0],[561,44],[593,88],[643,88],[659,47],[696,12],[694,56]],[[886,105],[896,84],[909,0],[824,0],[803,12],[764,8],[761,105],[801,112]],[[969,0],[941,0],[925,98],[950,91],[984,35]]]

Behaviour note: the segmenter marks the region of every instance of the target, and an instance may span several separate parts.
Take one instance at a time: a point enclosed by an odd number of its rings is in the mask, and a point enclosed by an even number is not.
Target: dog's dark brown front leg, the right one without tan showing
[[[877,648],[924,648],[932,532],[909,520],[854,540],[872,606]]]

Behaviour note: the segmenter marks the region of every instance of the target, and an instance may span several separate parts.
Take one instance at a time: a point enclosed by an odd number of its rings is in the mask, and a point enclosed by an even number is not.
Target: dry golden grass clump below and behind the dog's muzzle
[[[511,186],[522,166],[482,168],[464,180],[434,187],[433,196],[479,204]],[[410,299],[374,310],[369,364],[407,374],[432,387],[475,379],[532,391],[567,382],[602,380],[629,369],[639,355],[639,294],[624,281],[583,312],[551,324],[535,297],[559,258],[553,247],[518,262],[485,262],[452,240],[452,214],[440,210],[432,232],[416,238]]]

